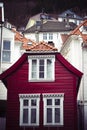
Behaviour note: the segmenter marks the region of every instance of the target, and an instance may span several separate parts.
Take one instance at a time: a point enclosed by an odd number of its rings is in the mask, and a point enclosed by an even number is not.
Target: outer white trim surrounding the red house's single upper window
[[[44,60],[47,60],[47,59],[52,59],[52,78],[51,79],[47,79],[46,77],[46,71],[45,71],[45,78],[39,78],[39,76],[37,76],[37,79],[32,79],[32,76],[31,76],[31,68],[32,68],[32,62],[31,60],[32,59],[36,59],[37,62],[40,60],[40,59],[44,59]],[[29,72],[28,72],[28,80],[30,82],[45,82],[45,81],[54,81],[55,80],[55,55],[32,55],[32,56],[28,56],[28,63],[29,63]],[[46,62],[45,62],[46,63]],[[45,68],[46,69],[46,68]]]

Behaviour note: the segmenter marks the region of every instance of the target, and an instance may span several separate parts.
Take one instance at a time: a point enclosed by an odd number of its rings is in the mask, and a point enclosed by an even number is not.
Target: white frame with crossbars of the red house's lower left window
[[[35,99],[36,106],[31,106],[31,100]],[[28,100],[29,106],[24,106],[23,101]],[[20,126],[39,126],[39,107],[40,107],[40,94],[19,94],[19,101],[20,101]],[[32,108],[36,109],[36,123],[31,123],[31,110]],[[23,110],[28,109],[28,123],[23,123]]]

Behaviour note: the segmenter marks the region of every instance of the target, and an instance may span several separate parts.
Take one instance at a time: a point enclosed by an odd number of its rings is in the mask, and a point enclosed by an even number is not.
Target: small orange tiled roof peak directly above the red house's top
[[[23,48],[27,51],[57,51],[57,48],[49,45],[48,43],[42,41],[31,46],[23,45]]]

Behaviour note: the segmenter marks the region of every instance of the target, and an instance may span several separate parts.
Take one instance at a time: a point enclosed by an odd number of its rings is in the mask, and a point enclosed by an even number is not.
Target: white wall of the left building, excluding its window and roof
[[[5,27],[2,29],[2,43],[3,40],[11,41],[11,59],[10,62],[2,62],[1,63],[1,72],[5,71],[9,67],[11,67],[21,56],[21,44],[20,42],[15,42],[15,33]],[[3,47],[3,44],[2,44]],[[0,99],[7,99],[7,89],[4,84],[0,81]]]

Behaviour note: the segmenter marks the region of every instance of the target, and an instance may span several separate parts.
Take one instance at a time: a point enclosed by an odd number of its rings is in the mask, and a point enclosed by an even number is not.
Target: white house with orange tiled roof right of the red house
[[[82,126],[87,130],[87,21],[77,27],[64,43],[61,54],[77,69],[83,72],[79,89],[78,105],[82,108]],[[83,31],[82,31],[83,28]]]

